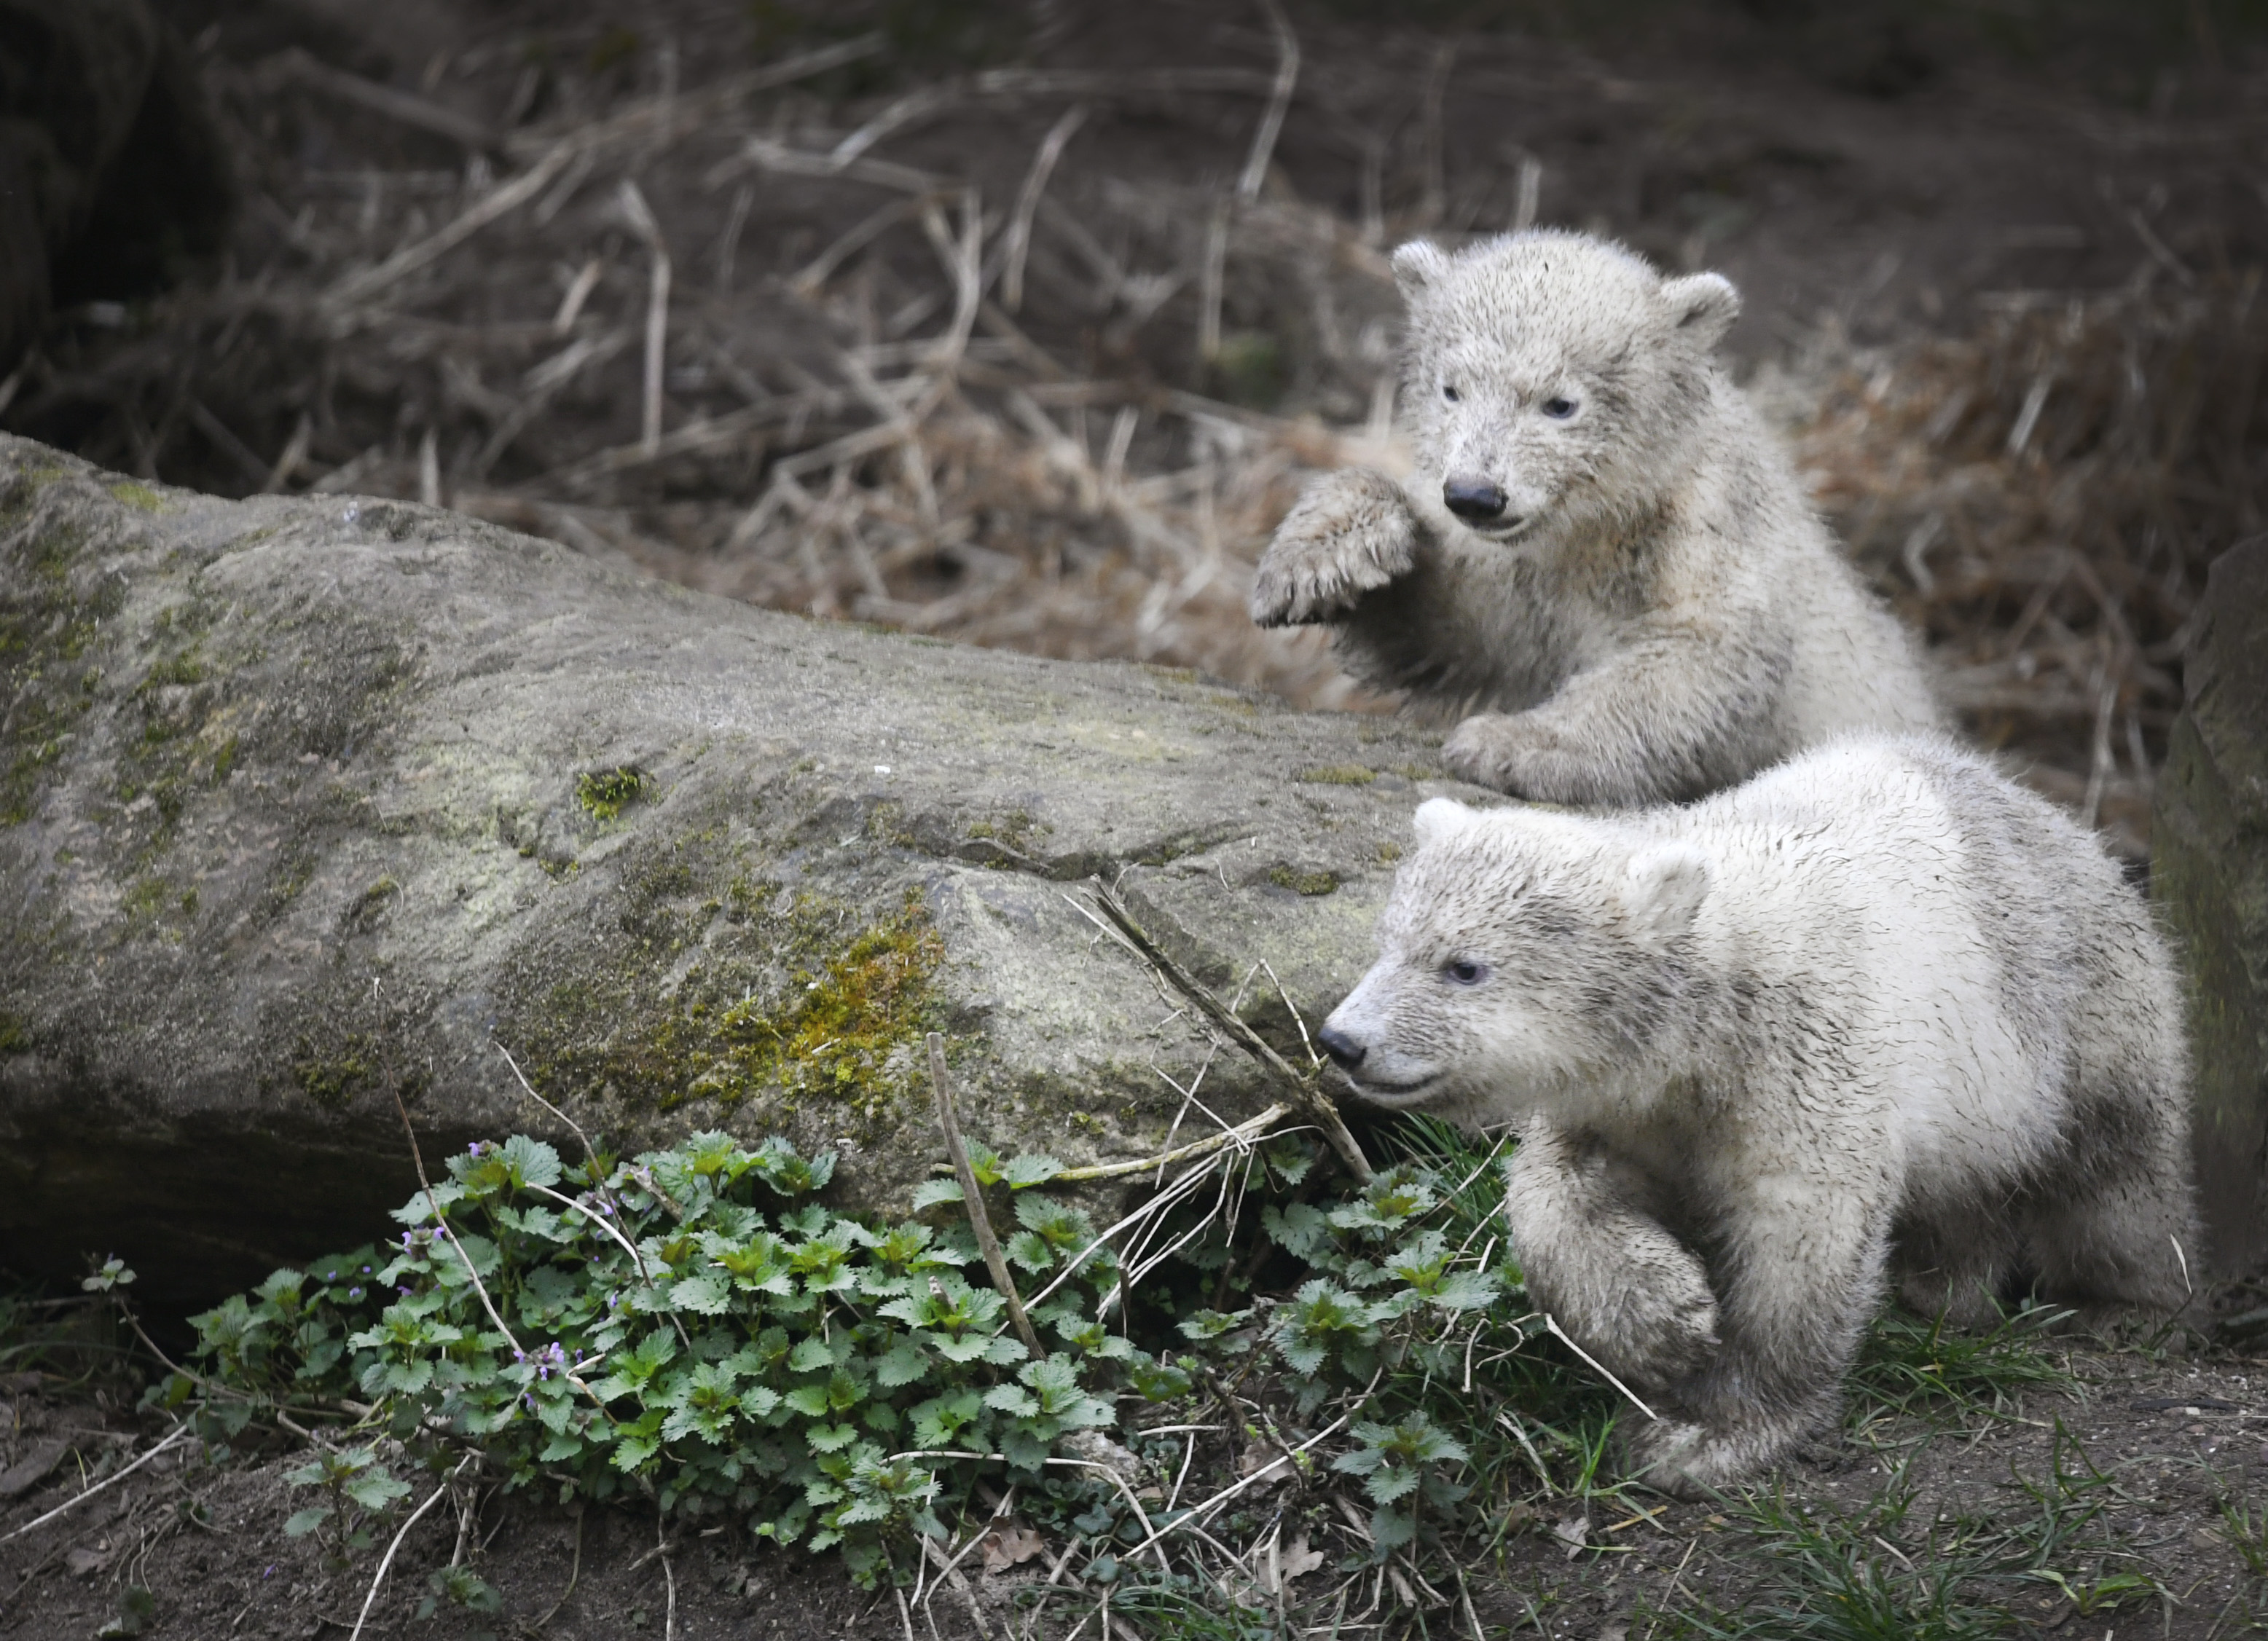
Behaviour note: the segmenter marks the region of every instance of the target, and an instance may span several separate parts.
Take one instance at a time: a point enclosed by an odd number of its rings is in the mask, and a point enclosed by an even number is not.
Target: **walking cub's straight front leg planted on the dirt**
[[[1642,1480],[1669,1494],[1746,1480],[1828,1421],[1882,1292],[1889,1201],[1794,1172],[1742,1179],[1737,1192],[1719,1222],[1724,1344],[1676,1387],[1681,1417],[1631,1442]]]

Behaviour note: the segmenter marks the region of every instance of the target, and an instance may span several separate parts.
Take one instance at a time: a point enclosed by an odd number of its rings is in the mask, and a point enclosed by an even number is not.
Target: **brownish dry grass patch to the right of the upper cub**
[[[1801,433],[1969,728],[2136,859],[2204,569],[2268,501],[2257,283],[2014,292],[1973,338],[1846,367]]]

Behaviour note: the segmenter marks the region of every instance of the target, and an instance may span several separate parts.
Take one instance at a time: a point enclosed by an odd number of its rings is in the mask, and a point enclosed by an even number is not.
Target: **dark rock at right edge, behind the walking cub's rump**
[[[2182,685],[2150,884],[2189,968],[2211,1260],[2241,1274],[2268,1262],[2268,539],[2214,562]]]

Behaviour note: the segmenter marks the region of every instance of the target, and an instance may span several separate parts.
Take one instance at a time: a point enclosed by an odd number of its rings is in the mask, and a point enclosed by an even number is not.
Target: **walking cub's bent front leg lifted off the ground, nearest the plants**
[[[1506,1179],[1504,1217],[1529,1301],[1626,1385],[1694,1374],[1717,1344],[1708,1269],[1640,1213],[1597,1149],[1533,1117]]]

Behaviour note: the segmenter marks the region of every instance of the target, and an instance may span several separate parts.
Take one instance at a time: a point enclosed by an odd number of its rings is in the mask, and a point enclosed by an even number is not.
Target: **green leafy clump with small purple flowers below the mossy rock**
[[[1064,1435],[1186,1389],[1095,1326],[1118,1265],[1077,1208],[1016,1201],[1018,1269],[1061,1278],[1034,1310],[1052,1342],[1034,1358],[1002,1330],[1000,1294],[964,1274],[966,1226],[835,1215],[812,1201],[832,1165],[721,1133],[581,1167],[524,1136],[474,1145],[397,1213],[395,1244],[193,1317],[204,1378],[229,1392],[200,1417],[227,1439],[261,1408],[365,1398],[388,1430],[476,1442],[513,1485],[733,1510],[778,1544],[839,1546],[871,1582],[909,1534],[941,1530],[937,1500],[975,1473],[1005,1464],[1077,1494],[1041,1473]],[[381,1476],[367,1448],[318,1455],[295,1480],[327,1503],[295,1530],[352,1544],[399,1489]]]

